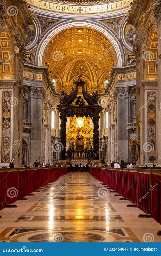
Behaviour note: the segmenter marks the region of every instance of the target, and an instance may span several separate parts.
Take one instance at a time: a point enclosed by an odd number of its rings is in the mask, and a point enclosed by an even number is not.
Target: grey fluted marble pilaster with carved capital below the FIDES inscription
[[[31,87],[31,164],[42,162],[44,140],[44,90]]]

